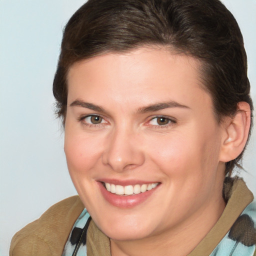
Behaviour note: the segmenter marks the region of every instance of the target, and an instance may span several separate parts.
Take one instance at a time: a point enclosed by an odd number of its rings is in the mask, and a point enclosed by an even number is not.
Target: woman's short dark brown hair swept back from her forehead
[[[200,60],[201,78],[218,121],[235,114],[239,101],[249,103],[252,112],[243,38],[219,0],[88,0],[63,32],[53,81],[56,111],[63,122],[66,77],[73,63],[145,45],[164,46]],[[238,165],[242,153],[226,163],[226,174]]]

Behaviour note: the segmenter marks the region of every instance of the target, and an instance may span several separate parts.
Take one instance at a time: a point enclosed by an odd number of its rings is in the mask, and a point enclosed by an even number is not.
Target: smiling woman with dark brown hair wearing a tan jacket
[[[231,178],[251,129],[246,62],[218,0],[81,6],[53,82],[79,197],[19,231],[10,254],[253,255],[253,196]]]

